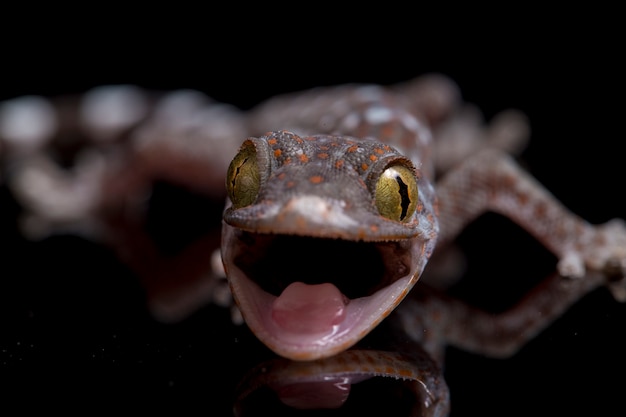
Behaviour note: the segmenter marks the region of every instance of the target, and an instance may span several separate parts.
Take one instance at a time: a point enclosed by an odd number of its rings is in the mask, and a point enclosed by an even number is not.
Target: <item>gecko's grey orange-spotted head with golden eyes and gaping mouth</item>
[[[432,190],[419,178],[378,142],[278,132],[244,143],[227,176],[222,260],[266,346],[293,360],[328,357],[395,309],[437,235]]]

